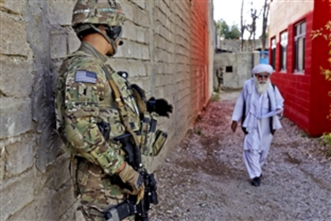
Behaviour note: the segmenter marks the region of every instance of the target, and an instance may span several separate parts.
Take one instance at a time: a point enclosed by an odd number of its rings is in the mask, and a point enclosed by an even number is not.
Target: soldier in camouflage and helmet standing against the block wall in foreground
[[[107,209],[130,195],[137,203],[144,197],[142,177],[125,162],[115,138],[130,133],[145,155],[156,155],[165,140],[158,144],[157,134],[142,119],[172,112],[164,99],[146,101],[144,91],[128,83],[126,72],[106,64],[123,43],[124,21],[115,0],[78,0],[72,26],[81,46],[63,61],[56,84],[57,129],[73,156],[75,191],[86,220],[104,220]]]

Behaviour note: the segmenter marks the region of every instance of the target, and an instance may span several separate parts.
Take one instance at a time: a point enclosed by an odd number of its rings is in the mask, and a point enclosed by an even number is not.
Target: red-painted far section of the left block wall
[[[197,103],[194,108],[199,111],[208,101],[208,6],[207,0],[191,1],[191,74],[194,76],[191,84],[198,87],[191,91],[196,96]]]

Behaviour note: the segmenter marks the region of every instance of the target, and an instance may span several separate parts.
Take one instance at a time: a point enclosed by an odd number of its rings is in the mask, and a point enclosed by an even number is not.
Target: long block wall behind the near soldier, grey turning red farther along
[[[150,170],[184,138],[213,85],[213,1],[122,0],[128,21],[118,54],[148,96],[173,104],[160,126],[168,141]],[[80,44],[75,0],[0,0],[0,220],[79,219],[69,155],[55,131],[54,84],[64,57]]]

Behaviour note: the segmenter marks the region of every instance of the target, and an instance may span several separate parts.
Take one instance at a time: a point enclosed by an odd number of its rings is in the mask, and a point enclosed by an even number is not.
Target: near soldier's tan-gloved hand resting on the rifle
[[[119,178],[124,184],[128,184],[132,189],[124,189],[124,191],[131,195],[137,195],[137,204],[144,197],[145,185],[141,175],[135,171],[130,165],[125,167],[118,173]]]

